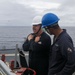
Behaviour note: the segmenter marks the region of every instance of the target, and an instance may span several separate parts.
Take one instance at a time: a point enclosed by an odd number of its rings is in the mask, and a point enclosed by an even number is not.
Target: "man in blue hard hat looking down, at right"
[[[59,18],[53,13],[42,17],[42,27],[54,35],[51,46],[48,75],[72,75],[75,70],[75,52],[72,38],[58,25]]]

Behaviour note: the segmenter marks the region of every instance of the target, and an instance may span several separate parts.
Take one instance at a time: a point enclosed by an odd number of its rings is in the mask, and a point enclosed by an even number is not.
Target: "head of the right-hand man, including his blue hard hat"
[[[55,26],[58,26],[59,20],[60,19],[55,14],[47,13],[42,18],[42,27],[45,28],[48,33],[53,34],[51,30]]]

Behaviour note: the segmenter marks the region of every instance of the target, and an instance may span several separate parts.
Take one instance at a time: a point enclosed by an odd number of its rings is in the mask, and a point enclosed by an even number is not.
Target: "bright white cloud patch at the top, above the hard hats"
[[[49,1],[42,1],[42,0],[19,0],[17,1],[19,4],[23,4],[27,7],[30,7],[31,9],[33,8],[36,13],[40,13],[42,11],[44,11],[45,9],[52,9],[52,8],[58,8],[58,6],[60,6],[59,3],[54,3],[54,2],[49,2]]]

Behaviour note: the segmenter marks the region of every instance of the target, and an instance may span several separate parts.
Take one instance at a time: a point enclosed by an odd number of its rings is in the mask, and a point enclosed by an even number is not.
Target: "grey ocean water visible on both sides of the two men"
[[[75,46],[75,27],[61,28],[67,30],[68,34],[72,37]],[[16,44],[22,49],[22,44],[24,43],[25,38],[31,32],[31,26],[0,26],[0,54],[15,53],[15,50],[12,49],[16,49]],[[6,60],[10,61],[12,58],[13,56],[8,56]]]

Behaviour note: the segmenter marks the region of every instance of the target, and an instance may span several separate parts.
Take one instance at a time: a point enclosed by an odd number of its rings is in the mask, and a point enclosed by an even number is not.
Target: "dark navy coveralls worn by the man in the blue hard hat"
[[[72,75],[75,70],[75,54],[71,37],[66,30],[52,45],[48,75]]]

